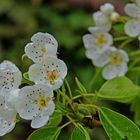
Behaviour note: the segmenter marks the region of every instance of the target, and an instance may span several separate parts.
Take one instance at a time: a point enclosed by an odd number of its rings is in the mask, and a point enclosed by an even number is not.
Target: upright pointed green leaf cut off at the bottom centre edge
[[[90,140],[90,136],[86,129],[78,124],[72,132],[71,140]]]

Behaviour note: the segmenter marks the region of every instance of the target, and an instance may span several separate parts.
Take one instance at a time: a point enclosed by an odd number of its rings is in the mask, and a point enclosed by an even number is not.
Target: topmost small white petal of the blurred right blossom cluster
[[[111,14],[114,12],[114,6],[111,3],[105,3],[100,7],[100,10],[105,14]]]

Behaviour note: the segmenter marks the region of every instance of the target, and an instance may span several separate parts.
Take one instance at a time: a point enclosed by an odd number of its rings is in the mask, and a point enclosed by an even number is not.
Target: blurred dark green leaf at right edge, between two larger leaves
[[[134,121],[140,126],[140,96],[132,102],[131,111],[134,112]]]

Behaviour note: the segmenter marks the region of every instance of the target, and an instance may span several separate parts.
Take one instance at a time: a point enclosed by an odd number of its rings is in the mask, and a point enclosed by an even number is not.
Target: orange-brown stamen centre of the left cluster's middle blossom
[[[58,78],[58,71],[57,70],[47,71],[47,76],[45,78],[46,80],[50,81],[50,84],[54,85],[55,80]]]

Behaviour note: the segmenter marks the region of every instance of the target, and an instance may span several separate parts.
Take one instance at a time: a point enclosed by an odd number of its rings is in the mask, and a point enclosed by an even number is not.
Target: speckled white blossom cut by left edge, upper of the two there
[[[21,80],[22,74],[15,64],[10,61],[0,64],[0,90],[5,93],[18,89]]]

